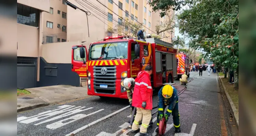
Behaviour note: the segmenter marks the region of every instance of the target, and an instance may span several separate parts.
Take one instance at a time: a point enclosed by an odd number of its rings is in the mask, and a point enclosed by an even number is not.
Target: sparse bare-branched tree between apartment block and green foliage
[[[174,13],[174,12],[173,12]],[[170,13],[166,13],[165,15],[165,20],[162,21],[158,21],[159,24],[156,25],[156,34],[160,35],[160,33],[173,33],[174,28],[176,27],[175,24],[175,15],[174,14],[170,14]],[[165,34],[160,38],[168,38],[170,36],[165,36]]]

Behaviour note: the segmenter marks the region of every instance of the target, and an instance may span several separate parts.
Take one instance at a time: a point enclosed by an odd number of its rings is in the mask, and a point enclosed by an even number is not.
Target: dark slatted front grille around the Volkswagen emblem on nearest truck
[[[107,73],[103,75],[101,73],[101,69],[105,67],[107,69]],[[116,66],[94,66],[94,80],[93,86],[95,92],[105,93],[105,94],[114,94],[116,90]],[[107,88],[100,88],[100,84],[108,85]],[[111,91],[109,91],[111,90]]]

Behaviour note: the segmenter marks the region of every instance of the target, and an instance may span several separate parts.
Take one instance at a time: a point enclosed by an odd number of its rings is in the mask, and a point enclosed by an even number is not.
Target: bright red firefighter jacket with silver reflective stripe
[[[146,71],[139,72],[135,79],[135,86],[133,90],[132,106],[142,107],[142,102],[146,102],[145,109],[152,109],[152,86],[150,82],[150,75]]]

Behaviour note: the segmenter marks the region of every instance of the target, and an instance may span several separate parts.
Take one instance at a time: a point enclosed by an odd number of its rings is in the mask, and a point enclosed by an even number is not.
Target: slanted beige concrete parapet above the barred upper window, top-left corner
[[[17,0],[17,3],[31,6],[45,12],[50,11],[50,0]]]

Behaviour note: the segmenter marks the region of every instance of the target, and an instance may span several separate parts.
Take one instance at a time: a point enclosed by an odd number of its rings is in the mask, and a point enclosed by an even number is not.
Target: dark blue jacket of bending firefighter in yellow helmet
[[[166,114],[168,116],[170,116],[172,114],[173,108],[175,107],[176,103],[178,102],[177,90],[175,87],[173,87],[172,97],[166,99],[162,95],[162,89],[163,89],[163,87],[158,92],[158,98],[159,98],[158,114],[164,114],[164,108],[166,106],[168,106]]]

